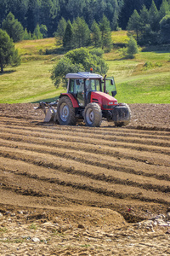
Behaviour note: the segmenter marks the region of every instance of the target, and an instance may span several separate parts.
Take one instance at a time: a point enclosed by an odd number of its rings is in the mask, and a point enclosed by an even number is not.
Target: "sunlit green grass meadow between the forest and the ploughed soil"
[[[113,32],[112,40],[127,43],[127,33]],[[54,101],[64,90],[54,87],[50,74],[62,55],[44,53],[56,47],[54,38],[16,44],[22,62],[0,74],[0,103]],[[112,49],[104,58],[109,65],[107,75],[116,81],[118,102],[170,103],[170,51],[140,51],[133,60],[125,60],[120,49]]]

